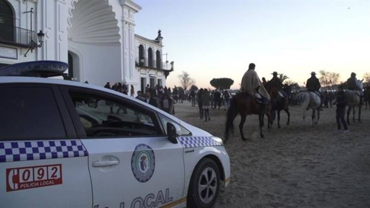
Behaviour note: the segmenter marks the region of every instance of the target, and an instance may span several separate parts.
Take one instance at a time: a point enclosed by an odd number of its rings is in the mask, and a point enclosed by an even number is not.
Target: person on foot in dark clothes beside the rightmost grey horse
[[[343,133],[348,133],[349,132],[348,126],[347,126],[346,120],[344,119],[344,114],[346,112],[347,100],[346,100],[346,96],[344,95],[344,91],[343,91],[343,86],[342,85],[340,85],[338,87],[336,101],[333,104],[334,105],[335,104],[337,105],[337,109],[336,109],[336,121],[337,121],[338,130],[341,130],[340,123],[342,122],[343,127],[344,127]]]

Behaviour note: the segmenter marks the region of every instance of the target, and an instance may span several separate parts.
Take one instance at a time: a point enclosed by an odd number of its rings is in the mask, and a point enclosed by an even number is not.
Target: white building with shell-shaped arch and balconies
[[[165,85],[173,62],[162,63],[160,31],[155,40],[135,34],[140,10],[131,0],[0,0],[0,67],[54,60],[80,82]]]

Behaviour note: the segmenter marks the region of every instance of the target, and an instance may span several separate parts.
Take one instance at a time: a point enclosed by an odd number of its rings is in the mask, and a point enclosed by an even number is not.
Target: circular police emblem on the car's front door
[[[147,182],[154,173],[154,167],[153,149],[146,144],[136,146],[131,158],[131,169],[136,180],[141,183]]]

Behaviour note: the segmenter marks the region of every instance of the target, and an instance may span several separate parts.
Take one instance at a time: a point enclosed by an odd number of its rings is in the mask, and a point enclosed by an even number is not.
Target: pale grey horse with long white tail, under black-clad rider
[[[317,95],[314,92],[300,92],[298,93],[298,96],[301,100],[301,111],[303,113],[303,123],[305,123],[306,118],[306,111],[309,109],[312,109],[312,127],[316,126],[317,123],[319,123],[320,120],[320,103],[321,99],[320,96]],[[317,112],[317,120],[316,120],[316,112]]]

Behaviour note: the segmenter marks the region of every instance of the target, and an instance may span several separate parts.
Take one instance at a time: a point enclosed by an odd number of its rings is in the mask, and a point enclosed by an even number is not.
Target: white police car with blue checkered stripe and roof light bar
[[[67,67],[0,68],[0,207],[212,207],[230,180],[221,139],[122,93],[45,78]]]

